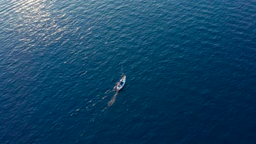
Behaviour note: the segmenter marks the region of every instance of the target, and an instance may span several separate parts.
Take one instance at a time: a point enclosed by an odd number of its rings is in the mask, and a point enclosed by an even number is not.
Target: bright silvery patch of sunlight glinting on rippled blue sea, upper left
[[[35,41],[47,46],[62,37],[65,27],[58,24],[60,17],[55,13],[53,2],[20,0],[13,3],[12,10],[17,17],[13,25],[16,31],[21,33],[20,41],[28,45],[26,51],[35,47],[33,44]]]

